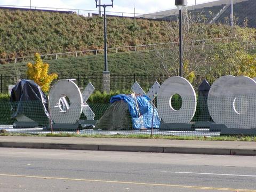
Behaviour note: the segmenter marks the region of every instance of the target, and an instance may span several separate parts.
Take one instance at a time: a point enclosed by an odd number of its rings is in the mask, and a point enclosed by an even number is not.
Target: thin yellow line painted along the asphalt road
[[[171,185],[171,184],[161,184],[161,183],[107,181],[107,180],[94,180],[94,179],[73,179],[73,178],[42,177],[42,176],[14,175],[14,174],[0,174],[0,176],[22,177],[22,178],[37,178],[37,179],[57,179],[57,180],[70,180],[70,181],[87,181],[87,182],[89,181],[89,182],[121,183],[121,184],[146,185],[146,186],[180,187],[180,188],[190,188],[190,189],[207,189],[207,190],[222,190],[222,191],[256,192],[256,190],[253,190],[253,189],[232,189],[232,188],[203,187],[203,186],[183,186],[183,185]]]

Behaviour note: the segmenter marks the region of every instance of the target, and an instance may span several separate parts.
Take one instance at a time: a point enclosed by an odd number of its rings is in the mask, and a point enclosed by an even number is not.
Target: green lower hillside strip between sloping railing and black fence
[[[32,61],[34,63],[34,61]],[[102,72],[104,55],[88,55],[58,60],[44,60],[50,64],[50,72],[58,74],[84,74]],[[26,74],[27,62],[0,65],[1,74]],[[158,59],[156,51],[121,52],[108,54],[108,66],[111,73],[156,73]]]

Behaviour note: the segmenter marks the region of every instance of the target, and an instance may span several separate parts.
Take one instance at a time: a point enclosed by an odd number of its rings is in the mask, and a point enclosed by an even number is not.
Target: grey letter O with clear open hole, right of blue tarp
[[[182,106],[173,109],[171,99],[179,94]],[[189,123],[196,112],[196,93],[193,86],[183,77],[170,77],[160,87],[157,94],[157,109],[164,123]]]

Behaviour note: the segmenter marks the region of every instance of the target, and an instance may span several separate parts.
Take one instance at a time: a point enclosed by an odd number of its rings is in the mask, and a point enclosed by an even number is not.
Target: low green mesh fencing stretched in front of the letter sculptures
[[[54,105],[55,106],[54,106]],[[155,104],[155,106],[154,106]],[[161,134],[213,137],[221,134],[250,133],[256,135],[256,94],[223,95],[221,97],[180,98],[157,97],[151,105],[161,124],[143,127],[143,114],[135,129],[126,102],[88,103],[94,119],[87,119],[79,103],[69,109],[50,103],[50,115],[45,114],[40,101],[0,102],[0,129],[18,133],[77,133],[79,134]],[[49,109],[47,109],[49,111]],[[82,113],[81,113],[82,110]],[[147,121],[156,121],[156,111],[148,111]],[[74,114],[78,114],[75,117]],[[141,120],[140,120],[141,119]]]

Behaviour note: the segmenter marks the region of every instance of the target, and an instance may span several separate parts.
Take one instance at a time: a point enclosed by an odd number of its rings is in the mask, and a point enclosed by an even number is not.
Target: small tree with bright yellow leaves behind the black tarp
[[[28,78],[41,86],[44,92],[48,92],[51,82],[58,77],[55,73],[48,74],[49,64],[43,63],[40,54],[35,53],[35,64],[28,63],[27,67]]]

